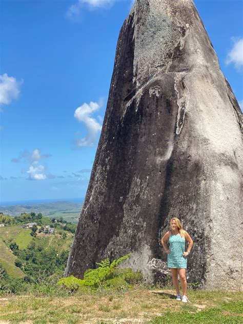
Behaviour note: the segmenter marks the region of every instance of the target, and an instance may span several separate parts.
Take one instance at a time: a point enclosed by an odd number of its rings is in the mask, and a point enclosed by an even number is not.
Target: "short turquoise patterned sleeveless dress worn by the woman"
[[[180,234],[171,234],[169,237],[170,254],[168,254],[168,268],[187,269],[187,257],[183,256],[185,252],[185,238]]]

